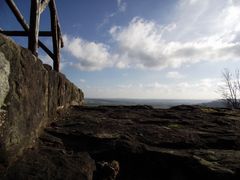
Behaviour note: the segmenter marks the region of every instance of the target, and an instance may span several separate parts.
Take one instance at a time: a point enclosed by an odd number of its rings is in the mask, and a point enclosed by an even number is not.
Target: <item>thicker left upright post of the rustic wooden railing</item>
[[[31,0],[31,13],[30,13],[30,29],[28,38],[28,49],[37,56],[38,50],[38,33],[40,22],[40,1]]]

